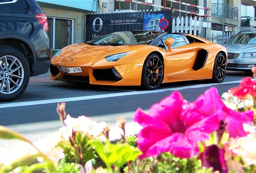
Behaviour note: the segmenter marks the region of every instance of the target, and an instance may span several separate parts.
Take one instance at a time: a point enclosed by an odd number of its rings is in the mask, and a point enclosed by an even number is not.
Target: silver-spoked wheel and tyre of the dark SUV
[[[0,47],[0,101],[20,97],[29,83],[29,65],[24,54],[11,46]]]

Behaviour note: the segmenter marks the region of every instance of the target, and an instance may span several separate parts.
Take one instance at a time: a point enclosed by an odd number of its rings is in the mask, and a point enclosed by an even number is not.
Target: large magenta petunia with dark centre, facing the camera
[[[149,113],[137,109],[134,121],[143,127],[137,138],[138,148],[143,153],[140,159],[167,151],[180,158],[198,154],[198,142],[209,139],[209,134],[219,128],[219,119],[216,115],[190,117],[189,107],[190,103],[174,91],[152,105]]]

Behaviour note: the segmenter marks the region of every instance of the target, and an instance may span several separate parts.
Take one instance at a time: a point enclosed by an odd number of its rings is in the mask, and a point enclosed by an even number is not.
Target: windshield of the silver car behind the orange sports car
[[[256,44],[256,33],[235,34],[225,44]]]

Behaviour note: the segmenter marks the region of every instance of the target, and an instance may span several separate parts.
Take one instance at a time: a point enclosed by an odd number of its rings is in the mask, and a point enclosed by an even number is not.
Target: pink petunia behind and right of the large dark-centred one
[[[219,97],[216,88],[206,90],[204,95],[201,95],[196,99],[194,107],[191,107],[189,112],[192,114],[190,118],[194,121],[198,121],[195,117],[208,117],[212,115],[218,115],[219,122],[223,121],[227,124],[227,131],[229,137],[244,137],[246,132],[244,131],[243,123],[250,124],[254,118],[253,111],[237,112],[229,109],[223,103]],[[200,115],[200,116],[198,116]]]

